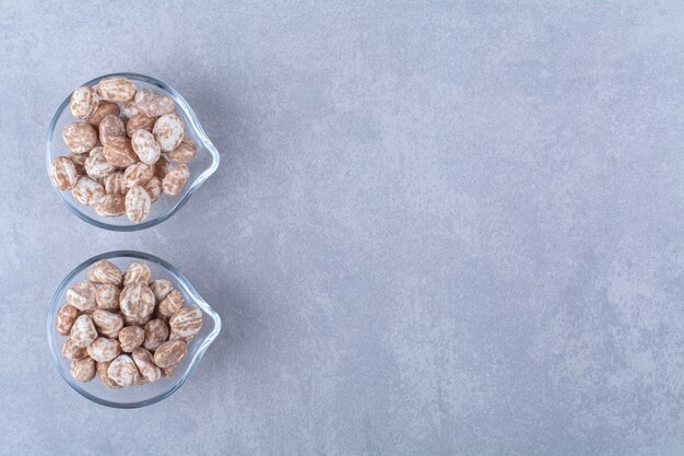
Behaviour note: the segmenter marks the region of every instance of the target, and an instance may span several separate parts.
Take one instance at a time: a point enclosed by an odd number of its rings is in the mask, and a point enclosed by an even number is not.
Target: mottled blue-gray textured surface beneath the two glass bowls
[[[0,1],[0,453],[682,455],[684,7],[337,3]],[[44,166],[62,97],[125,70],[222,152],[132,234]],[[135,411],[70,390],[44,328],[118,248],[225,323]]]

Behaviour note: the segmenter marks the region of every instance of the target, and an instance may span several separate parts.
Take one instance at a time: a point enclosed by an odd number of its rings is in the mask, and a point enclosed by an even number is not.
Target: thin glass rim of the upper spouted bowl
[[[131,232],[131,231],[139,231],[139,230],[145,230],[155,225],[158,225],[160,223],[166,221],[167,219],[169,219],[172,215],[174,215],[180,208],[182,208],[185,206],[185,203],[188,201],[188,199],[190,199],[190,197],[192,196],[192,194],[194,194],[194,191],[197,191],[197,189],[204,183],[204,180],[207,180],[209,178],[209,176],[211,176],[212,174],[214,174],[214,172],[219,168],[219,163],[221,161],[219,151],[216,150],[216,148],[214,147],[214,144],[211,142],[211,140],[209,139],[209,137],[207,136],[207,132],[204,132],[204,129],[202,128],[202,126],[200,125],[199,119],[197,118],[197,115],[194,114],[194,110],[192,109],[192,107],[190,107],[190,105],[188,104],[188,102],[186,102],[186,100],[180,95],[180,93],[178,93],[174,87],[172,87],[170,85],[168,85],[167,83],[156,79],[156,78],[152,78],[145,74],[140,74],[140,73],[132,73],[132,72],[119,72],[119,73],[109,73],[109,74],[104,74],[94,79],[91,79],[90,81],[81,84],[81,85],[95,85],[97,84],[99,81],[102,81],[105,78],[114,78],[114,77],[122,77],[122,78],[128,78],[134,81],[142,81],[145,82],[148,84],[151,85],[155,85],[164,91],[166,91],[173,98],[174,102],[180,106],[180,108],[185,112],[188,120],[190,121],[191,128],[193,129],[193,131],[197,135],[198,140],[202,143],[202,145],[209,151],[209,153],[212,156],[212,163],[211,165],[204,169],[202,173],[200,173],[190,184],[190,187],[188,187],[188,190],[185,192],[185,195],[179,198],[174,206],[172,206],[169,209],[167,209],[164,213],[160,214],[158,217],[155,217],[154,219],[141,222],[141,223],[134,223],[134,224],[129,224],[129,225],[117,225],[114,223],[107,223],[106,221],[103,220],[98,220],[95,219],[89,214],[86,214],[85,212],[83,212],[79,207],[76,207],[75,204],[73,204],[71,201],[69,201],[66,197],[66,192],[59,190],[57,187],[55,187],[55,185],[52,184],[51,179],[50,179],[50,184],[52,185],[52,188],[55,189],[55,191],[57,192],[57,195],[59,195],[59,198],[62,200],[62,202],[67,206],[67,208],[69,208],[69,210],[76,215],[79,219],[90,223],[91,225],[97,226],[99,229],[104,229],[104,230],[111,230],[111,231],[118,231],[118,232]],[[62,113],[67,109],[67,107],[69,106],[69,103],[71,101],[71,93],[64,98],[64,101],[59,105],[59,107],[57,108],[57,110],[55,112],[55,115],[52,116],[52,120],[50,121],[50,125],[48,127],[48,133],[47,133],[47,141],[46,141],[46,164],[47,164],[47,173],[48,173],[48,178],[50,175],[50,168],[52,165],[52,139],[55,136],[55,129],[57,127],[57,122],[59,120],[59,118],[61,117]]]

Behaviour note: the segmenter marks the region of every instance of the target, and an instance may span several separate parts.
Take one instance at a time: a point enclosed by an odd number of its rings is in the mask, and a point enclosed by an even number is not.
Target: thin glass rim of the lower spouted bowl
[[[161,267],[165,268],[174,277],[174,279],[182,288],[182,290],[192,297],[193,303],[197,304],[207,315],[209,315],[212,318],[213,324],[214,324],[212,331],[209,335],[207,335],[207,337],[202,340],[202,343],[200,344],[197,352],[190,360],[188,367],[185,370],[182,375],[180,375],[180,377],[176,381],[176,383],[174,383],[168,389],[160,393],[156,396],[153,396],[149,399],[139,400],[135,402],[116,402],[116,401],[111,401],[107,399],[102,399],[86,391],[85,389],[83,389],[81,387],[81,384],[74,378],[72,378],[68,370],[66,370],[64,366],[62,365],[61,351],[58,349],[56,344],[56,340],[54,340],[55,338],[51,336],[54,328],[55,328],[56,318],[57,318],[57,311],[61,302],[59,301],[59,297],[64,293],[67,287],[69,287],[71,281],[80,272],[85,270],[89,266],[91,266],[95,261],[99,261],[101,259],[110,259],[110,258],[142,259],[144,261],[155,262],[160,265]],[[67,382],[67,384],[69,384],[69,386],[71,386],[72,389],[74,389],[76,393],[79,393],[81,396],[85,397],[86,399],[90,399],[93,402],[99,404],[102,406],[117,408],[117,409],[135,409],[140,407],[151,406],[163,399],[166,399],[167,397],[176,393],[186,383],[190,374],[192,374],[192,372],[199,364],[200,360],[204,355],[204,352],[207,351],[209,346],[211,346],[214,339],[216,339],[220,332],[221,332],[221,316],[219,316],[219,314],[213,308],[211,308],[211,306],[202,299],[202,296],[200,296],[200,294],[197,292],[197,290],[194,290],[190,281],[178,269],[176,269],[172,264],[163,260],[160,257],[156,257],[154,255],[146,254],[143,252],[137,252],[137,250],[107,252],[107,253],[91,257],[86,259],[85,261],[81,262],[73,270],[71,270],[71,272],[69,272],[67,277],[64,277],[64,279],[61,281],[61,283],[57,288],[57,291],[52,295],[52,300],[50,302],[50,306],[48,308],[48,314],[47,314],[48,346],[50,348],[50,353],[52,355],[52,361],[55,363],[55,366],[57,367],[57,371],[59,372],[61,377]]]

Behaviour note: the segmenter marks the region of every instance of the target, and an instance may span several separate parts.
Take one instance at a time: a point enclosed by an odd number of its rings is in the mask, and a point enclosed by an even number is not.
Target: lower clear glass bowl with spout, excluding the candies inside
[[[86,280],[87,267],[103,258],[114,262],[121,268],[121,270],[126,270],[128,265],[133,261],[145,261],[152,270],[153,279],[166,279],[170,281],[174,284],[174,288],[180,291],[185,296],[186,305],[197,306],[203,311],[204,320],[202,329],[197,336],[194,336],[192,341],[188,343],[188,354],[178,364],[176,373],[173,376],[162,378],[158,382],[149,383],[146,385],[111,389],[103,385],[97,376],[95,376],[95,378],[91,382],[81,383],[76,382],[69,373],[71,361],[62,358],[61,355],[61,349],[67,340],[67,337],[57,332],[55,327],[57,313],[67,302],[67,289],[75,282]],[[50,347],[50,353],[52,354],[52,361],[55,361],[55,366],[62,378],[81,396],[103,406],[119,409],[133,409],[138,407],[151,406],[174,394],[182,386],[184,383],[186,383],[188,376],[192,373],[194,367],[197,367],[202,359],[202,355],[209,346],[214,341],[216,336],[219,336],[220,331],[221,317],[209,306],[209,304],[207,304],[204,300],[202,300],[185,276],[161,258],[150,254],[131,250],[118,250],[101,254],[76,266],[76,268],[69,272],[64,280],[62,280],[59,284],[59,288],[52,297],[52,302],[50,303],[47,317],[47,340]]]

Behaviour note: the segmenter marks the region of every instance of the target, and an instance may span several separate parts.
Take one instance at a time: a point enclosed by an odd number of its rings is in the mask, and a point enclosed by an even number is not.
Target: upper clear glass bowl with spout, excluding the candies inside
[[[126,215],[117,218],[98,215],[92,206],[83,206],[76,201],[71,195],[71,191],[62,191],[56,187],[55,191],[57,191],[57,195],[59,195],[71,212],[92,225],[114,231],[144,230],[162,223],[175,214],[176,211],[178,211],[178,209],[180,209],[188,201],[200,185],[202,185],[202,183],[207,180],[207,178],[219,167],[219,151],[207,137],[207,133],[202,129],[202,126],[197,119],[197,116],[188,102],[186,102],[184,97],[180,96],[180,94],[172,86],[160,80],[135,73],[113,73],[95,78],[87,81],[83,85],[95,85],[102,79],[109,77],[128,78],[135,82],[138,89],[152,89],[157,92],[161,91],[174,98],[176,102],[176,112],[180,115],[180,117],[182,117],[182,120],[186,124],[186,138],[190,138],[197,143],[197,157],[188,164],[188,167],[190,168],[190,179],[188,179],[180,194],[175,197],[162,195],[160,199],[152,204],[152,210],[150,211],[148,219],[141,223],[131,222]],[[62,130],[67,124],[79,121],[79,119],[74,118],[69,110],[70,98],[71,94],[69,94],[59,108],[57,108],[57,113],[55,113],[48,129],[46,145],[48,177],[52,160],[60,155],[69,155],[70,153],[61,138]]]

